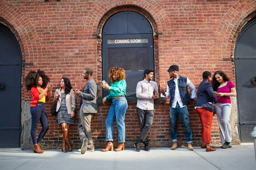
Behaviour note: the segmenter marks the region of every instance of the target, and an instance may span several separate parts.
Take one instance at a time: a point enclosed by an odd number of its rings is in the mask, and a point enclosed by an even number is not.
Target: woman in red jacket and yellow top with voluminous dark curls
[[[50,78],[45,75],[44,71],[30,71],[25,77],[25,87],[28,91],[31,91],[32,95],[32,101],[30,103],[30,133],[34,145],[33,151],[35,153],[41,154],[44,152],[44,150],[40,148],[40,143],[49,128],[48,117],[45,111],[45,100],[46,98],[50,99],[52,96],[52,83],[50,83]],[[47,93],[48,90],[50,90],[50,93]],[[42,130],[39,132],[37,138],[36,131],[39,121],[42,125]]]

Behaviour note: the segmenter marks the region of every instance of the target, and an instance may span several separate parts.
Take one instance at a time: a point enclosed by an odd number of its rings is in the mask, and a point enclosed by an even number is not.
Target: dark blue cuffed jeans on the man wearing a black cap
[[[177,140],[177,120],[178,120],[179,114],[185,128],[186,141],[187,143],[191,143],[192,132],[191,132],[190,123],[189,123],[188,107],[184,106],[180,108],[180,105],[178,103],[175,108],[170,107],[172,142],[178,141]]]

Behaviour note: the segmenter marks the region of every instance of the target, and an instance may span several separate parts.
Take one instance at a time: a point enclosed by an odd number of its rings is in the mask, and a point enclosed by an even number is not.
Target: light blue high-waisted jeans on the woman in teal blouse
[[[118,142],[125,142],[125,112],[128,107],[125,97],[119,97],[112,100],[106,120],[106,141],[113,141],[114,121],[116,120]]]

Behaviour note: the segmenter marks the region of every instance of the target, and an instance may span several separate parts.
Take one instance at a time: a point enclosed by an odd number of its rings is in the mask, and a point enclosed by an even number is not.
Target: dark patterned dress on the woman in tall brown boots
[[[75,117],[71,118],[70,114],[68,114],[65,93],[61,93],[61,103],[60,103],[60,108],[58,111],[56,123],[57,124],[61,124],[61,123],[74,124],[75,123]]]

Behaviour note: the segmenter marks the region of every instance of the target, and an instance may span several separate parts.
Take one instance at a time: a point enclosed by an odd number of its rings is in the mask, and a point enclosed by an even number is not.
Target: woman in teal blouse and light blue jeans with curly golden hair
[[[109,95],[102,99],[105,104],[107,99],[112,99],[112,104],[109,108],[106,120],[106,141],[107,146],[102,151],[108,151],[111,148],[113,151],[113,128],[116,120],[118,133],[118,147],[115,151],[124,150],[125,142],[125,112],[128,107],[126,96],[126,81],[125,71],[121,67],[111,67],[108,72],[108,77],[111,80],[110,86],[108,83],[103,83],[102,87],[109,90]]]

